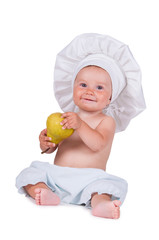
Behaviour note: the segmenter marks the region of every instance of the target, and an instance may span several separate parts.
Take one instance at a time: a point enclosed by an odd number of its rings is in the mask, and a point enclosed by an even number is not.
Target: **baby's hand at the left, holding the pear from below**
[[[40,147],[42,151],[46,150],[47,148],[53,148],[56,146],[55,143],[50,142],[51,138],[47,137],[47,129],[41,131],[39,135]]]

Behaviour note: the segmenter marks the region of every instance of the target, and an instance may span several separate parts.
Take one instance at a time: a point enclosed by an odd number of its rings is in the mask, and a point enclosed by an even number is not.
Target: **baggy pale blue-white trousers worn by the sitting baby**
[[[127,182],[97,168],[60,167],[47,162],[34,161],[16,178],[19,193],[26,193],[24,186],[45,183],[61,202],[85,204],[90,207],[92,193],[110,194],[112,200],[122,203],[127,193]]]

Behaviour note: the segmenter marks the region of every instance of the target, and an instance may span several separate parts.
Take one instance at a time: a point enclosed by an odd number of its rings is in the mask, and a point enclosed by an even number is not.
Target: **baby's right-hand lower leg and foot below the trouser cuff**
[[[120,217],[120,204],[119,200],[111,201],[108,194],[95,193],[91,199],[92,214],[97,217],[117,219]]]

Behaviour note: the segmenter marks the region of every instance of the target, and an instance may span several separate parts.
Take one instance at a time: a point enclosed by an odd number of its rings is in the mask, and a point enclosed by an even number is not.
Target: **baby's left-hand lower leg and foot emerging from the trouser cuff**
[[[60,198],[45,183],[28,184],[24,189],[38,205],[58,205],[60,203]]]

